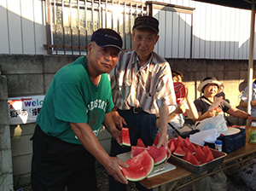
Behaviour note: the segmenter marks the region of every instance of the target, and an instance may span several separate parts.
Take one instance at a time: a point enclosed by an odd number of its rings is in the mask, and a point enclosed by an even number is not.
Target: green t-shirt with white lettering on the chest
[[[69,122],[89,124],[97,136],[105,113],[110,113],[112,108],[108,74],[102,74],[97,86],[93,84],[86,56],[82,56],[56,72],[44,97],[37,124],[49,136],[81,144]]]

